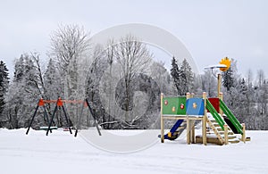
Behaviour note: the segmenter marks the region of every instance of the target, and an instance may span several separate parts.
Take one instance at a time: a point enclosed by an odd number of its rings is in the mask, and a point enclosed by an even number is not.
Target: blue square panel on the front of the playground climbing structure
[[[204,99],[189,98],[186,102],[186,114],[188,115],[204,115]]]

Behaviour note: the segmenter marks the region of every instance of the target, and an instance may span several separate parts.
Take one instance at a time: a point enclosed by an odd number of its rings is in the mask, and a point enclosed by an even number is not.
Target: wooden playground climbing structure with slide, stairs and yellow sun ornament
[[[230,60],[226,57],[220,64],[208,67],[219,68],[226,71],[230,68]],[[223,102],[221,93],[222,76],[218,74],[217,97],[207,98],[194,97],[189,93],[186,96],[164,96],[161,94],[161,142],[164,139],[174,140],[187,130],[187,144],[191,143],[214,143],[228,145],[229,143],[244,143],[250,140],[246,137],[246,126],[240,124],[226,104]],[[208,118],[210,112],[212,118]],[[177,120],[171,130],[164,135],[164,120]],[[202,122],[202,135],[195,136],[195,123]],[[212,132],[207,131],[207,126]],[[207,136],[209,134],[209,136]],[[240,135],[240,139],[239,136]]]

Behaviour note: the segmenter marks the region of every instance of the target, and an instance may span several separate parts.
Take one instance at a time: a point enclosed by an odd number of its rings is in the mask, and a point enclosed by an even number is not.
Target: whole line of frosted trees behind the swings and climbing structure
[[[102,128],[159,128],[160,94],[185,95],[187,92],[216,95],[216,78],[210,70],[195,74],[186,59],[172,57],[172,69],[154,61],[146,43],[132,35],[113,38],[105,46],[91,43],[80,26],[66,25],[50,38],[47,62],[38,53],[21,54],[14,63],[14,74],[0,62],[0,127],[26,128],[40,98],[56,100],[88,99]],[[236,61],[222,72],[224,101],[248,129],[267,129],[267,80],[259,70],[257,79],[248,71],[239,75]],[[46,104],[51,116],[55,104]],[[94,126],[83,104],[65,104],[71,124],[81,117],[82,128]],[[38,111],[32,126],[46,126],[48,120]],[[53,123],[64,127],[63,111]]]

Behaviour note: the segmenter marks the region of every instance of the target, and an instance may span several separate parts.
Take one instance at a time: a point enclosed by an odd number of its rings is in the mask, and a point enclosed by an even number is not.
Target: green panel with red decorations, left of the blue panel
[[[186,97],[163,97],[163,114],[186,115]]]

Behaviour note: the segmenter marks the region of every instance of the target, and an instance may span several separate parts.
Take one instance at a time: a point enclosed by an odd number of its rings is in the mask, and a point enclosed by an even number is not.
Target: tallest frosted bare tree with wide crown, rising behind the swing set
[[[87,67],[86,57],[89,50],[89,35],[78,25],[60,26],[51,35],[50,58],[56,62],[59,70],[62,98],[80,100],[85,98],[85,81]],[[55,92],[61,94],[61,91]],[[77,120],[78,106],[66,105],[71,120]]]

